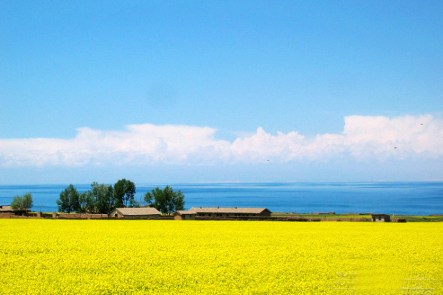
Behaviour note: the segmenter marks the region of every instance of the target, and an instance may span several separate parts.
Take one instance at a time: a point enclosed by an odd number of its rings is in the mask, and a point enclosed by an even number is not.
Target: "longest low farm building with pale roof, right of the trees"
[[[271,216],[266,208],[239,208],[239,207],[192,207],[174,213],[175,220],[194,220],[201,217],[239,217],[239,216]]]

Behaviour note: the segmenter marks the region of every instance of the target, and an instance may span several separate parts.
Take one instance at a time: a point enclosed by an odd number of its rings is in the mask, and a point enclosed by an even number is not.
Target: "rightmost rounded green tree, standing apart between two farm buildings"
[[[163,190],[156,187],[145,194],[145,201],[152,207],[168,214],[185,209],[185,196],[181,191],[174,191],[169,185]]]

